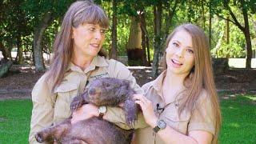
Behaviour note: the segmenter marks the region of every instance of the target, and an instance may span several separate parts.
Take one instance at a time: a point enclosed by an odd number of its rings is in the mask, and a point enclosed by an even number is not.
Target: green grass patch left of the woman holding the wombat
[[[0,143],[28,143],[30,132],[30,100],[0,101]]]

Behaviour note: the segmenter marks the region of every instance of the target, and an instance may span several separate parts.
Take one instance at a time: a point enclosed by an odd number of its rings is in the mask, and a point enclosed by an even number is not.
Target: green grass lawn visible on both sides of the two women
[[[222,94],[220,143],[256,142],[256,95]],[[27,143],[30,131],[30,100],[0,101],[0,143]]]

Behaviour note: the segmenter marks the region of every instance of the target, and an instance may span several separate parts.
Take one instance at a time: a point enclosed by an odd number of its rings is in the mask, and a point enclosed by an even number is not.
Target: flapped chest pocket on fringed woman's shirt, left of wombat
[[[54,122],[60,122],[70,117],[70,103],[78,95],[78,84],[62,83],[54,90],[54,93],[57,94],[54,106]]]

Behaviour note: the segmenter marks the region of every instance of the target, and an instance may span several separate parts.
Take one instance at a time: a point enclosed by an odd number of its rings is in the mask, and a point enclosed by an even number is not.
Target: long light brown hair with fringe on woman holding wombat
[[[107,28],[109,18],[100,6],[90,1],[77,1],[70,6],[62,20],[61,30],[55,38],[54,57],[51,60],[50,69],[47,71],[52,92],[62,82],[71,60],[73,53],[72,27],[78,27],[83,23],[98,24]],[[102,50],[98,52],[98,55],[106,57]]]

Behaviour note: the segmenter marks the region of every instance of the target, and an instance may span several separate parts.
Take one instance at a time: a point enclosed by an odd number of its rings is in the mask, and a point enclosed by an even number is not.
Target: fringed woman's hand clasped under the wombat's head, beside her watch
[[[98,107],[93,104],[82,105],[72,114],[71,123],[79,122],[88,118],[98,117]]]

